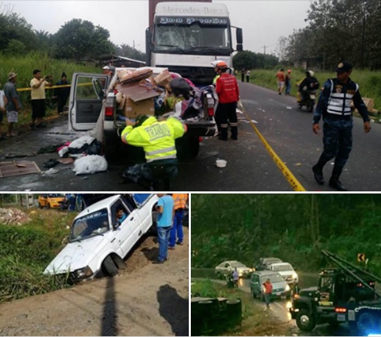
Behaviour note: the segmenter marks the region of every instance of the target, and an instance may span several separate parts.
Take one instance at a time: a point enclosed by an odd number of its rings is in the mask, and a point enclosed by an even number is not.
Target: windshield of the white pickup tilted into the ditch
[[[105,208],[75,220],[70,232],[70,242],[88,239],[108,230],[109,217]]]

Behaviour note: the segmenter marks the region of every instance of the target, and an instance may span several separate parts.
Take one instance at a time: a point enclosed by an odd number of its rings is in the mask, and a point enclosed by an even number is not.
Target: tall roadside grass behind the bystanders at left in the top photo
[[[3,55],[0,53],[0,82],[2,83],[1,89],[3,89],[5,83],[8,81],[8,73],[10,71],[16,72],[17,81],[16,86],[18,89],[29,88],[30,81],[33,79],[33,70],[40,69],[42,76],[52,76],[53,85],[60,81],[62,72],[67,75],[68,81],[71,83],[73,72],[90,72],[101,73],[101,69],[96,66],[89,66],[83,63],[68,62],[61,59],[51,59],[46,53],[31,52],[23,56]],[[47,120],[51,120],[57,117],[57,105],[51,98],[53,96],[53,89],[47,88],[46,94],[46,114]],[[29,127],[31,122],[31,96],[29,91],[19,92],[21,98],[21,104],[23,109],[18,114],[17,129],[25,129],[25,126]],[[6,115],[3,120],[2,131],[5,133],[7,129]]]

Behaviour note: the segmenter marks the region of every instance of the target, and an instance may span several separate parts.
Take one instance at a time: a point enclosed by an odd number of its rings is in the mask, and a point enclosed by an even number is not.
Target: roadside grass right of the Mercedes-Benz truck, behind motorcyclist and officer
[[[260,85],[261,87],[267,87],[268,89],[277,92],[278,80],[275,77],[276,72],[278,72],[278,68],[274,70],[254,69],[250,72],[250,83]],[[291,68],[291,96],[296,97],[298,90],[295,83],[304,79],[304,72],[305,70],[302,69]],[[321,86],[327,79],[335,76],[336,74],[334,72],[315,72],[315,77]],[[240,77],[241,75],[237,75],[237,80],[239,82],[241,81]],[[373,98],[374,109],[381,110],[381,72],[354,69],[351,78],[358,83],[361,96]],[[380,116],[380,113],[373,113],[373,116],[378,117]]]

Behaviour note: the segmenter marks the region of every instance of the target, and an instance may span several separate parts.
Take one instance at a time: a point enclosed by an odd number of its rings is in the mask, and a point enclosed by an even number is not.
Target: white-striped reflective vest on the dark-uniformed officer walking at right
[[[343,85],[330,79],[331,91],[328,98],[327,113],[340,116],[351,116],[351,100],[358,92],[358,84],[354,82]]]

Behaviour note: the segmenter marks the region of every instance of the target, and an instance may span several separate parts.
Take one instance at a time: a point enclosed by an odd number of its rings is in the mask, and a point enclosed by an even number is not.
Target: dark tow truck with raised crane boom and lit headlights
[[[289,311],[299,329],[310,332],[317,324],[348,323],[361,336],[380,336],[381,294],[375,286],[381,279],[326,250],[321,252],[334,267],[319,273],[317,287],[293,295]]]

